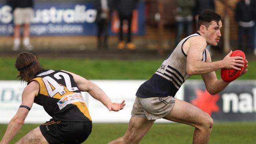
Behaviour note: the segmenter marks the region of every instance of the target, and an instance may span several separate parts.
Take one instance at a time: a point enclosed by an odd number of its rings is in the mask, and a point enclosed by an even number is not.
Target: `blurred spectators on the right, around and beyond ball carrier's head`
[[[193,33],[193,16],[195,25],[197,18],[205,9],[215,11],[214,0],[176,0],[176,44],[182,36],[188,36]],[[235,19],[238,25],[238,48],[246,54],[256,55],[256,0],[239,0],[235,7]],[[186,33],[184,35],[184,29]],[[210,46],[207,47],[210,51]]]

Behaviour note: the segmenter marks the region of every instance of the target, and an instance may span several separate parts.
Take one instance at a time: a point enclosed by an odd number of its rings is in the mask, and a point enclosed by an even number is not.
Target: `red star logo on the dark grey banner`
[[[219,94],[211,95],[207,90],[196,89],[197,98],[192,100],[191,103],[202,111],[208,113],[211,116],[212,112],[219,112],[219,106],[217,102],[221,97]]]

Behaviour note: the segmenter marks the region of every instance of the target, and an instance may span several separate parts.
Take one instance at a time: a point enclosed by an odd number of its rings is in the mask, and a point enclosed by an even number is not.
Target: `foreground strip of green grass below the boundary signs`
[[[25,124],[16,137],[14,144],[39,124]],[[128,124],[93,124],[89,138],[83,144],[106,144],[121,137]],[[4,135],[7,125],[0,125],[0,137]],[[178,123],[156,123],[148,131],[140,144],[191,144],[194,128]],[[224,122],[213,126],[209,144],[255,144],[256,122]]]

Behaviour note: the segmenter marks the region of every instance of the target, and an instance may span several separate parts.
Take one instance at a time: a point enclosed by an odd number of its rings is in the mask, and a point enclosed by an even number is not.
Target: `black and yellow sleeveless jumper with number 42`
[[[87,109],[87,106],[83,101],[77,101],[68,103],[64,106],[63,109],[60,109],[57,103],[67,103],[66,101],[62,100],[61,98],[72,96],[75,94],[80,94],[80,90],[77,89],[77,85],[74,82],[74,79],[71,74],[67,72],[63,72],[61,70],[45,70],[45,75],[39,74],[37,75],[32,81],[37,81],[40,85],[40,90],[38,96],[35,98],[35,103],[42,105],[45,109],[45,111],[52,116],[55,120],[64,120],[64,121],[91,121],[91,116],[89,114],[89,111]],[[65,73],[65,75],[63,74]],[[69,78],[56,78],[56,75],[54,74],[63,74],[64,76],[69,76]],[[56,81],[58,83],[58,88],[61,88],[62,92],[56,92],[54,87],[54,84],[56,86],[56,83],[54,82],[53,85],[51,83],[47,83],[44,81],[45,77],[50,77],[52,81]],[[67,81],[70,80],[70,81]],[[49,91],[49,85],[51,87],[50,91],[54,91],[54,95],[51,96]],[[76,88],[74,91],[70,91],[68,87]],[[47,89],[48,86],[48,89]],[[63,92],[65,90],[65,92]],[[67,100],[68,101],[68,100]]]

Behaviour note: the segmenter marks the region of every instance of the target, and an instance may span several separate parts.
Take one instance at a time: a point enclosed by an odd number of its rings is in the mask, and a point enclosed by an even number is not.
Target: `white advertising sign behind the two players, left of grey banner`
[[[89,93],[82,92],[93,122],[129,122],[135,93],[145,80],[92,80],[92,82],[96,83],[112,102],[125,100],[126,103],[121,111],[108,111],[102,103],[91,97]],[[0,124],[7,124],[15,115],[21,104],[21,94],[25,87],[26,83],[20,81],[0,81]],[[175,98],[183,100],[183,91],[183,87],[181,87]],[[44,123],[50,118],[41,105],[34,103],[25,123]],[[156,122],[168,121],[161,119]]]

